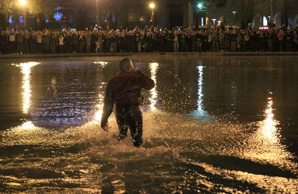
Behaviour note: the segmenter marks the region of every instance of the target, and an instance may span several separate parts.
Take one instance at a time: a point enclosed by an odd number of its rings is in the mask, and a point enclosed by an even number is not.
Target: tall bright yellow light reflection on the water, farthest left
[[[31,68],[35,65],[38,65],[38,62],[27,62],[27,63],[20,63],[19,65],[16,65],[17,67],[21,68],[21,72],[23,74],[23,112],[25,114],[28,113],[28,110],[30,108],[30,97],[31,97],[31,86],[30,86],[30,73]]]

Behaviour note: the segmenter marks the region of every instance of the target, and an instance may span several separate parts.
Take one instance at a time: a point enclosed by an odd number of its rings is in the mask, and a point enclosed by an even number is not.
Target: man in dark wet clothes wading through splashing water
[[[115,103],[119,128],[118,140],[126,138],[129,127],[134,145],[139,147],[143,143],[143,117],[140,109],[143,102],[142,88],[150,90],[155,87],[155,84],[138,67],[134,68],[132,61],[128,58],[123,59],[119,67],[121,72],[110,79],[106,88],[101,128],[107,131],[108,118]]]

